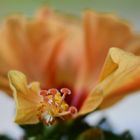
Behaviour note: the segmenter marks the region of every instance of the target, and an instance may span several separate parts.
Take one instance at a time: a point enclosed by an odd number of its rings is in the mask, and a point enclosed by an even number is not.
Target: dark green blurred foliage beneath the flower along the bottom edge
[[[115,134],[106,119],[101,120],[94,127],[89,126],[84,121],[84,117],[49,127],[42,124],[21,127],[26,132],[25,140],[133,140],[128,131],[120,135]]]

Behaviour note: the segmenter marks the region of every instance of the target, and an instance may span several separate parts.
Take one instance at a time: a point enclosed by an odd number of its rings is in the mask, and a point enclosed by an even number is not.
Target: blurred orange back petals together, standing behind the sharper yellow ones
[[[85,13],[84,30],[80,19],[48,8],[30,20],[12,16],[0,29],[0,75],[17,69],[32,80],[40,81],[43,87],[49,85],[46,84],[51,81],[49,77],[55,81],[51,86],[92,86],[110,47],[127,49],[129,46],[129,51],[138,52],[139,38],[134,36],[129,25],[117,17],[92,11]],[[138,47],[133,50],[134,44]],[[58,51],[53,57],[55,50]],[[48,67],[50,63],[52,72]],[[85,67],[87,69],[83,70]],[[83,75],[86,76],[81,78]]]

